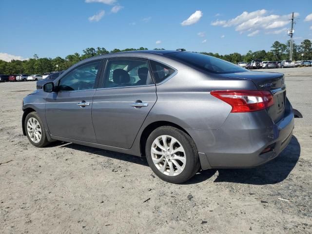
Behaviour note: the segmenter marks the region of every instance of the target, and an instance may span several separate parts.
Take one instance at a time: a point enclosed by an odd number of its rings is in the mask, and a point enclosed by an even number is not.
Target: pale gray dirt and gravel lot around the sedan
[[[208,170],[182,185],[138,157],[35,148],[20,123],[35,82],[0,83],[0,233],[312,233],[312,68],[274,70],[304,116],[290,145],[259,168]]]

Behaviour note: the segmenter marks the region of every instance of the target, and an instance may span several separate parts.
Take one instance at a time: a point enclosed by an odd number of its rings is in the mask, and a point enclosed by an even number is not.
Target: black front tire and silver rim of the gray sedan
[[[37,122],[39,123],[39,130],[37,128]],[[30,126],[28,126],[28,120],[30,120]],[[33,123],[33,124],[32,124]],[[34,146],[38,147],[38,148],[42,148],[44,146],[47,146],[50,142],[48,141],[47,139],[47,136],[45,134],[45,129],[44,129],[44,125],[39,117],[39,115],[37,114],[37,112],[30,112],[26,118],[25,118],[25,132],[26,132],[26,136],[29,140],[30,143],[32,143]],[[31,134],[31,129],[34,129],[33,127],[36,126],[36,133],[34,134]],[[30,128],[29,128],[30,127]],[[29,129],[28,129],[29,128]],[[41,133],[41,137],[40,139],[38,138],[39,137],[39,133]],[[37,137],[36,137],[37,135]]]

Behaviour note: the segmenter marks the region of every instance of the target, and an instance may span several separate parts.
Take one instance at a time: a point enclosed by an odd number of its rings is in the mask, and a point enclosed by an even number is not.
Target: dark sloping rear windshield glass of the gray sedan
[[[192,52],[176,52],[167,56],[177,59],[193,67],[217,74],[246,72],[245,68],[234,65],[222,59],[217,59],[209,55]]]

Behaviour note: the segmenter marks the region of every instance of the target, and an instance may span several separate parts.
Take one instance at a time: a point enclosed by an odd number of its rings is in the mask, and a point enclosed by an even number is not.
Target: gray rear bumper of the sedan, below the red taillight
[[[256,167],[278,156],[292,139],[292,106],[274,123],[266,110],[231,113],[221,128],[188,129],[200,152],[202,169]],[[268,146],[268,153],[261,154]],[[207,157],[205,161],[204,156]]]

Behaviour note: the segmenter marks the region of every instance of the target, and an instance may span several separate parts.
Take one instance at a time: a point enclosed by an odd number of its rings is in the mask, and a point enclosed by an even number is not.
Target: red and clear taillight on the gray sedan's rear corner
[[[259,111],[274,104],[273,96],[269,91],[222,90],[211,91],[210,94],[230,104],[231,112],[234,113]]]

